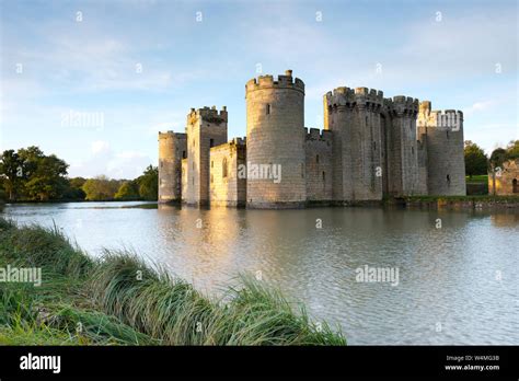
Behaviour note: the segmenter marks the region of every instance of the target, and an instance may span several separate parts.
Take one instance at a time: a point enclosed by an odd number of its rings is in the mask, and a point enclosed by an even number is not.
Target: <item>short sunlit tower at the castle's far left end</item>
[[[159,132],[159,203],[180,201],[181,161],[187,154],[186,135]]]

